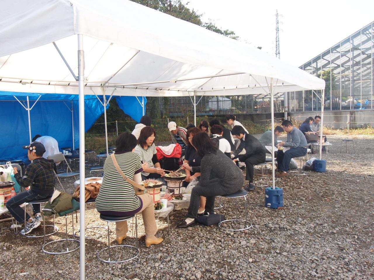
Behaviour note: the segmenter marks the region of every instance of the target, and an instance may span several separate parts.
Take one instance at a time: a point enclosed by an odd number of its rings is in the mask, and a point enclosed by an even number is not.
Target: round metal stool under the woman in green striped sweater
[[[128,221],[132,218],[135,217],[135,237],[136,237],[136,247],[135,246],[131,246],[131,245],[114,245],[114,246],[110,246],[110,230],[109,230],[109,223],[111,222],[120,222],[120,221]],[[131,216],[127,216],[127,217],[117,217],[117,216],[107,216],[107,215],[102,215],[100,214],[100,219],[103,220],[103,221],[106,221],[108,223],[108,247],[107,248],[104,248],[104,249],[101,249],[98,253],[97,253],[97,258],[100,260],[100,261],[103,261],[103,262],[107,262],[107,263],[110,263],[110,264],[116,264],[116,263],[119,263],[119,262],[127,262],[127,261],[131,261],[132,259],[135,259],[137,258],[137,256],[139,256],[140,254],[140,250],[138,248],[138,224],[137,224],[137,217],[136,215],[131,215]],[[128,259],[125,259],[124,261],[111,261],[111,255],[110,255],[110,249],[111,248],[115,248],[115,247],[129,247],[129,248],[133,248],[135,249],[135,252],[136,255],[135,256],[132,256],[131,258],[128,258]],[[100,253],[101,252],[104,252],[108,250],[108,259],[102,259],[100,257]]]

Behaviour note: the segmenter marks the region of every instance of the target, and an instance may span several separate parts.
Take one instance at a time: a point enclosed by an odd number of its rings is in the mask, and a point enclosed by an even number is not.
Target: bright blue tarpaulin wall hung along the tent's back
[[[73,102],[74,145],[79,147],[79,105],[78,95],[15,93],[0,91],[1,131],[0,160],[21,159],[27,161],[27,153],[22,145],[29,144],[27,110],[13,97],[16,96],[27,108],[26,96],[30,108],[39,96],[39,101],[30,111],[31,137],[36,134],[55,138],[61,147],[73,147],[71,122],[71,102]],[[102,101],[102,97],[101,101]],[[107,96],[107,99],[109,96]],[[134,96],[117,97],[120,108],[136,121],[142,116],[142,107]],[[136,103],[135,103],[136,102]],[[144,100],[144,103],[146,100]],[[126,105],[125,105],[126,104]],[[107,106],[107,109],[109,105]],[[140,108],[140,109],[139,109]],[[99,116],[104,113],[96,96],[85,96],[85,132],[91,128]]]

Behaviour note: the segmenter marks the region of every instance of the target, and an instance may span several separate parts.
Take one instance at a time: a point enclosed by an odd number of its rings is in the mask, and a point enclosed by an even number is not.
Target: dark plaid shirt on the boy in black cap
[[[31,190],[36,193],[45,194],[53,192],[55,187],[56,165],[53,160],[36,158],[26,168],[25,175],[21,177],[19,173],[14,175],[17,183],[22,187],[31,186]]]

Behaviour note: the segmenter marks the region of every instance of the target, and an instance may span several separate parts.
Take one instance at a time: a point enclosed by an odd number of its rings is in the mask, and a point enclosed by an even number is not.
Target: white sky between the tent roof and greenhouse
[[[184,1],[186,3],[187,0]],[[203,14],[241,41],[275,55],[275,12],[279,21],[281,60],[300,66],[374,21],[373,0],[188,0]],[[282,29],[282,30],[281,30]]]

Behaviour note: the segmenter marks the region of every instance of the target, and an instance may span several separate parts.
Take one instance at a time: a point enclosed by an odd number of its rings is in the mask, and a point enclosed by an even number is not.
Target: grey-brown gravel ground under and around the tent
[[[86,279],[374,279],[373,137],[355,136],[355,154],[339,152],[341,138],[328,136],[333,146],[323,155],[327,172],[290,175],[276,183],[284,189],[284,211],[264,208],[263,187],[248,195],[253,226],[246,231],[228,233],[202,225],[179,229],[176,224],[186,210],[173,211],[170,234],[166,220],[157,221],[157,236],[164,242],[145,248],[140,241],[140,256],[124,264],[97,259],[107,245],[106,235],[87,239]],[[73,181],[66,186],[73,192]],[[232,201],[223,202],[226,218],[233,217]],[[56,217],[56,224],[59,232],[47,241],[65,236],[64,217]],[[86,206],[86,224],[105,226],[93,204]],[[43,239],[14,234],[10,225],[0,223],[0,279],[79,279],[79,250],[47,255],[41,250]],[[33,233],[42,233],[42,228]],[[116,245],[114,237],[112,233]],[[131,234],[124,241],[134,242]]]

